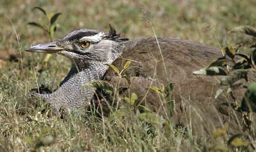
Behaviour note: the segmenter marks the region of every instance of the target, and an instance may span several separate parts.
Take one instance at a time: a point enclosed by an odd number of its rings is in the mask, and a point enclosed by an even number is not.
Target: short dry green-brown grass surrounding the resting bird
[[[67,74],[70,62],[52,56],[40,72],[44,55],[24,52],[29,45],[49,42],[43,30],[26,25],[31,21],[45,22],[40,6],[49,13],[62,13],[55,39],[77,28],[108,30],[108,24],[122,36],[153,37],[151,27],[143,21],[141,5],[148,8],[157,36],[179,37],[214,47],[251,44],[250,36],[230,34],[239,25],[256,26],[253,0],[247,1],[1,1],[0,2],[0,151],[213,151],[248,150],[231,147],[225,134],[220,138],[197,137],[182,127],[150,126],[138,113],[109,121],[92,113],[66,113],[64,119],[54,115],[46,103],[29,97],[29,90],[38,84],[56,89]],[[8,17],[7,17],[8,16]],[[13,23],[19,37],[16,40]],[[242,50],[247,51],[248,45]],[[10,54],[22,56],[9,61]],[[35,72],[34,72],[35,68]],[[57,70],[56,70],[57,69]],[[41,112],[45,109],[44,112]],[[255,118],[253,114],[251,117]],[[254,116],[254,117],[253,117]],[[207,121],[207,120],[206,120]],[[254,122],[253,122],[254,123]],[[172,122],[169,122],[172,124]],[[252,126],[255,128],[255,125]],[[159,129],[160,128],[160,129]],[[218,132],[218,131],[217,131]],[[212,133],[209,133],[214,134]],[[255,144],[255,135],[254,144]],[[247,140],[247,139],[245,139]],[[253,141],[252,140],[252,141]]]

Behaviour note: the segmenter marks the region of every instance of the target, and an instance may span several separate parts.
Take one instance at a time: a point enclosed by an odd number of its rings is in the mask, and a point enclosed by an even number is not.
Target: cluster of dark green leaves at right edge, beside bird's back
[[[235,84],[241,79],[247,81],[247,73],[249,71],[255,70],[255,53],[254,50],[249,56],[243,53],[238,53],[238,49],[234,49],[232,46],[222,48],[221,50],[225,55],[213,61],[209,66],[195,71],[194,74],[204,74],[204,75],[225,75],[220,80],[220,87],[217,91],[215,98],[217,98],[223,91],[227,90],[234,98],[232,92],[234,89],[241,87],[247,88],[243,84]],[[236,59],[235,59],[236,57]],[[239,60],[237,60],[239,58]],[[228,62],[231,64],[228,66]]]

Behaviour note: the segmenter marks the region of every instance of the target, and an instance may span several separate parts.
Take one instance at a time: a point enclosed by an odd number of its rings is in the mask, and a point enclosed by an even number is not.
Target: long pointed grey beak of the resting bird
[[[65,50],[62,47],[57,46],[57,41],[30,46],[25,49],[27,52],[40,52],[40,53],[58,53],[61,50]]]

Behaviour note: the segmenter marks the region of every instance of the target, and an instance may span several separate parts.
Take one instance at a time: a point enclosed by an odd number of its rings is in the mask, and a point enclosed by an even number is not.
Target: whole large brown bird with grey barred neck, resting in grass
[[[137,94],[140,104],[149,107],[153,112],[168,115],[171,101],[166,102],[150,87],[168,88],[172,84],[173,110],[177,114],[173,118],[176,119],[176,124],[193,122],[196,130],[200,132],[205,127],[209,129],[222,126],[230,120],[230,116],[221,116],[223,119],[220,119],[218,114],[217,105],[230,101],[227,95],[214,99],[218,81],[214,77],[193,74],[193,71],[209,65],[221,56],[221,51],[217,48],[172,37],[129,41],[110,27],[109,33],[75,30],[58,41],[31,46],[26,51],[60,54],[71,60],[70,72],[55,92],[35,94],[56,109],[61,106],[78,109],[88,105],[95,88],[81,89],[81,86],[97,80],[120,83],[115,81],[115,71],[106,64],[112,63],[120,70],[130,60],[130,66],[124,71],[129,79],[124,84],[128,84],[130,93]],[[209,121],[206,123],[204,120]],[[229,121],[233,122],[235,121]]]

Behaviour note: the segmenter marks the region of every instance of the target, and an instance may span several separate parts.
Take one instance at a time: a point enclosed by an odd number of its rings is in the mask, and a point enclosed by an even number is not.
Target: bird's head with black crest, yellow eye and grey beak
[[[128,40],[117,34],[111,26],[108,33],[99,30],[78,29],[68,33],[60,40],[30,46],[25,51],[59,54],[68,57],[76,65],[90,62],[108,64],[122,53],[122,44]]]

